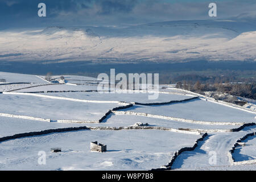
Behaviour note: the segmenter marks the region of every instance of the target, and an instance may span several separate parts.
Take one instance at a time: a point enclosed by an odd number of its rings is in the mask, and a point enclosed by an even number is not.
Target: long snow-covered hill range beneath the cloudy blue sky
[[[255,60],[256,24],[187,20],[130,27],[2,30],[0,60]]]

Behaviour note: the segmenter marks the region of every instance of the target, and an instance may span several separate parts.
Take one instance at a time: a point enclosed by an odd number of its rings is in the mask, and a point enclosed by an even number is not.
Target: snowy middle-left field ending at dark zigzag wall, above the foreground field
[[[51,98],[0,94],[0,113],[44,119],[98,120],[118,104],[84,103]],[[17,104],[18,103],[18,104]]]

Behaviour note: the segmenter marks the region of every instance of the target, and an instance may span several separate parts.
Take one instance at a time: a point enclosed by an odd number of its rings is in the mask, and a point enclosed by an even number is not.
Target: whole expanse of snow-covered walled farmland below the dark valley
[[[238,139],[256,132],[253,111],[203,96],[183,101],[197,95],[172,85],[161,86],[159,98],[148,100],[152,93],[86,92],[97,90],[96,78],[64,77],[65,84],[50,84],[42,76],[0,72],[0,78],[10,83],[8,88],[0,85],[0,170],[157,169],[170,163],[176,151],[193,147],[205,132],[208,135],[194,150],[177,156],[171,169],[256,169],[256,164],[234,165],[229,155]],[[17,87],[17,82],[47,85],[27,88],[28,84]],[[89,82],[93,84],[86,85]],[[64,90],[82,92],[61,92]],[[180,102],[166,103],[170,101]],[[254,124],[245,127],[244,123]],[[107,145],[106,152],[90,151],[90,142],[96,140]],[[234,150],[234,160],[253,161],[255,135],[243,142],[245,146]],[[52,147],[62,151],[52,153]],[[38,163],[39,151],[46,152],[46,165]],[[216,154],[214,164],[209,162],[212,151]]]

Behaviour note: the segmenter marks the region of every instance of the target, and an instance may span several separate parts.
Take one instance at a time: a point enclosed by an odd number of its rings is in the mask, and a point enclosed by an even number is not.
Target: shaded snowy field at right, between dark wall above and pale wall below
[[[255,122],[255,114],[233,109],[224,105],[203,100],[158,106],[133,106],[124,111],[134,111],[170,117],[215,122]]]

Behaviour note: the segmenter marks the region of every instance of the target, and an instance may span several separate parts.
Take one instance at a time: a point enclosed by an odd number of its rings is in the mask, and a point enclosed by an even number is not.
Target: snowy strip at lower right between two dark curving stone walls
[[[248,133],[256,131],[256,127],[246,127],[234,133],[211,133],[194,151],[183,152],[174,162],[174,169],[202,169],[210,167],[230,166],[228,152],[236,141]],[[209,163],[210,151],[216,152],[216,164]],[[252,151],[253,152],[253,151]]]

